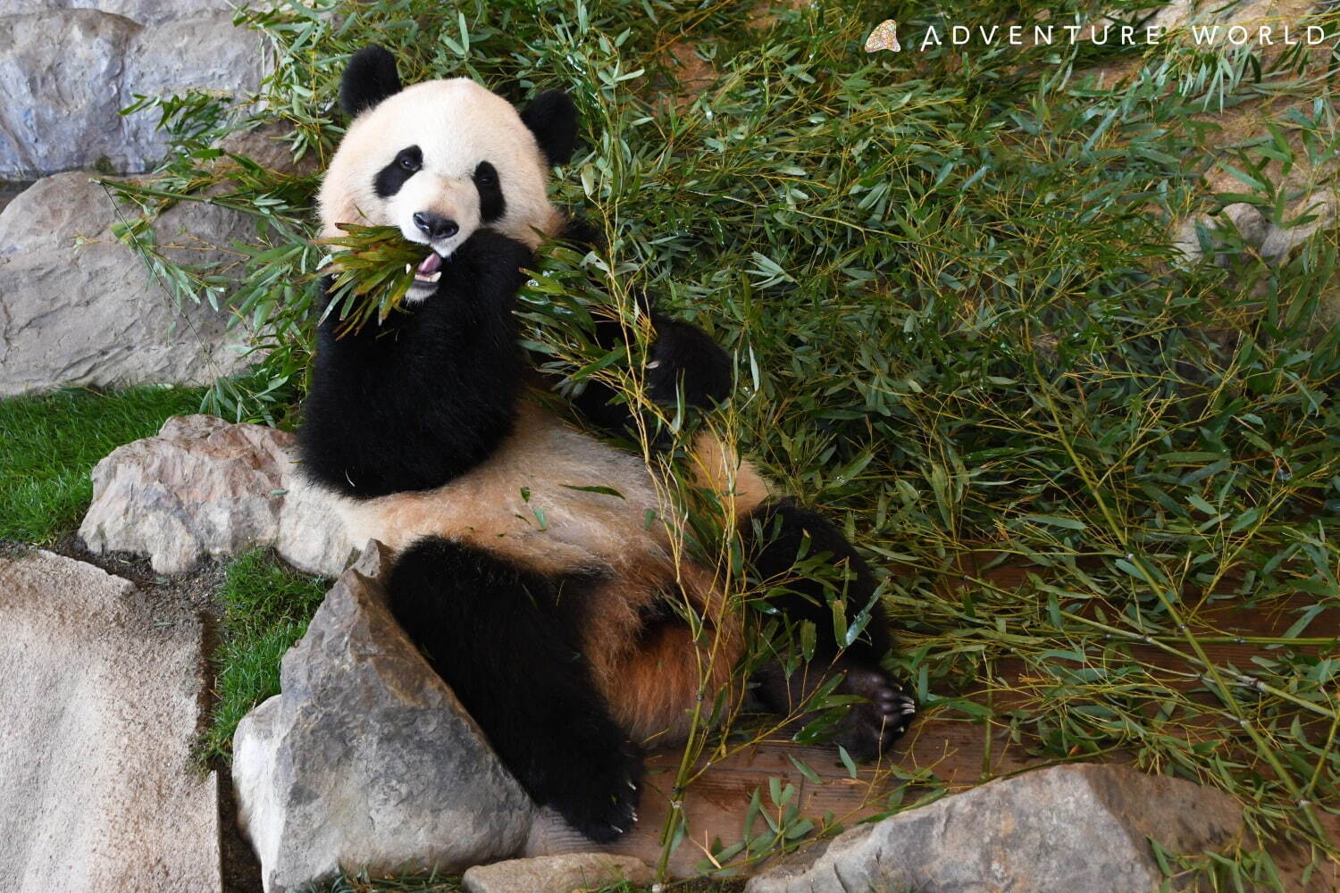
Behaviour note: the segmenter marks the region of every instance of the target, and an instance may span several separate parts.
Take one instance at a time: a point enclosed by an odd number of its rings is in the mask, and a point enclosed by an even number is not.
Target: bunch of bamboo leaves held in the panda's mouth
[[[414,269],[426,246],[406,240],[395,226],[336,224],[344,236],[319,240],[330,248],[330,266],[336,269],[326,313],[340,324],[336,337],[362,329],[373,319],[381,324],[394,312],[414,284]]]

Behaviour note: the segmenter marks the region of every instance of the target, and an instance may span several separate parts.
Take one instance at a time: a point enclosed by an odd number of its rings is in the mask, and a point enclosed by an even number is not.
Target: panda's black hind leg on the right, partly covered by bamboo
[[[838,672],[839,694],[864,698],[839,723],[833,740],[855,759],[872,759],[896,740],[917,714],[917,702],[890,676],[880,661],[892,648],[888,620],[875,598],[875,578],[864,560],[842,532],[823,515],[801,509],[791,499],[756,509],[741,523],[745,556],[750,570],[765,584],[779,584],[770,597],[788,621],[811,621],[816,629],[815,659],[789,677],[780,661],[764,667],[754,677],[764,706],[789,714],[815,689]],[[827,553],[824,562],[835,568],[816,578],[800,566],[807,557]],[[827,570],[827,569],[825,569]],[[838,594],[851,623],[870,605],[870,620],[860,636],[843,647],[833,631],[831,600]]]

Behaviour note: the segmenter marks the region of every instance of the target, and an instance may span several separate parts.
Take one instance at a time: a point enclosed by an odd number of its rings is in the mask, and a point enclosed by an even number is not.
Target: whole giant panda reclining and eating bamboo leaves
[[[322,181],[322,233],[395,226],[430,250],[401,312],[343,336],[335,313],[319,324],[303,467],[332,491],[355,541],[395,552],[395,619],[523,787],[591,839],[611,841],[636,819],[645,748],[682,739],[704,694],[675,604],[716,619],[709,698],[733,685],[745,619],[720,611],[710,568],[675,561],[667,518],[679,513],[643,458],[533,399],[512,309],[541,241],[580,236],[547,197],[549,167],[574,150],[575,106],[548,91],[517,111],[464,78],[402,87],[394,58],[375,46],[351,58],[339,99],[351,120]],[[721,348],[659,313],[651,323],[649,394],[701,408],[726,399]],[[628,411],[607,396],[588,388],[576,408],[612,431]],[[827,556],[843,566],[847,604],[875,602],[846,649],[819,582],[791,578],[772,605],[815,621],[817,675],[843,675],[838,691],[858,696],[836,740],[872,758],[907,728],[915,703],[880,667],[891,641],[870,569],[832,523],[777,498],[748,462],[710,439],[695,449],[758,580],[796,577],[797,554]],[[813,675],[773,665],[752,681],[764,708],[785,714]]]

